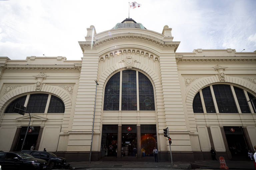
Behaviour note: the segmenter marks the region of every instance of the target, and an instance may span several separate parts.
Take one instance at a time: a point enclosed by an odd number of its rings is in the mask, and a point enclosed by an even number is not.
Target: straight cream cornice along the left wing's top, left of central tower
[[[81,63],[74,65],[7,64],[4,72],[80,72]]]

